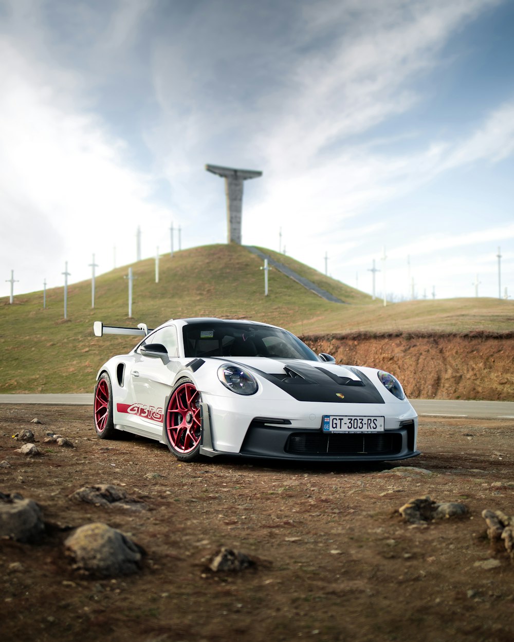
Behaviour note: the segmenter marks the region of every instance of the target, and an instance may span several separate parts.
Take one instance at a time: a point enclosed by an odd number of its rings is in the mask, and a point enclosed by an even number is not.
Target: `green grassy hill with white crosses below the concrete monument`
[[[383,306],[365,293],[281,254],[267,252],[299,274],[330,291],[347,305],[327,302],[288,279],[269,273],[264,296],[261,260],[238,245],[211,245],[163,256],[159,283],[154,259],[135,263],[132,319],[128,318],[127,266],[96,278],[95,308],[91,281],[64,288],[0,299],[0,393],[90,392],[100,365],[126,352],[136,337],[93,336],[93,321],[109,325],[168,318],[213,316],[251,318],[281,325],[295,334],[368,331],[511,331],[514,303],[497,299],[423,300]]]

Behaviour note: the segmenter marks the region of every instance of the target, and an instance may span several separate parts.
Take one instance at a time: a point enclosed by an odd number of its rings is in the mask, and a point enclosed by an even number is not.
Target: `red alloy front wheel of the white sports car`
[[[166,413],[166,432],[177,453],[187,455],[200,443],[200,393],[190,381],[173,391]]]

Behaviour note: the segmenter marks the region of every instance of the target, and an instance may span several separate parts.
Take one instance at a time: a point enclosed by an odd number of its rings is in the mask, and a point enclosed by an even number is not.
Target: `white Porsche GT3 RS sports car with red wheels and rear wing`
[[[100,368],[94,425],[157,439],[179,460],[239,455],[301,461],[419,455],[418,416],[383,370],[336,365],[274,325],[218,318],[155,330],[94,324],[96,336],[138,334]]]

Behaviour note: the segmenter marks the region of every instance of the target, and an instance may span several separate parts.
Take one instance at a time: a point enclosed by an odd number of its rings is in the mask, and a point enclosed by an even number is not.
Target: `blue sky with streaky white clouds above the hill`
[[[263,173],[244,245],[514,298],[513,33],[513,0],[0,0],[0,296],[132,265],[139,226],[226,243],[209,163]]]

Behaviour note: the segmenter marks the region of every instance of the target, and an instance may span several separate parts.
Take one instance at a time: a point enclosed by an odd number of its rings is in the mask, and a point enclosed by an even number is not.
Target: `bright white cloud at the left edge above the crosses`
[[[137,224],[169,220],[151,202],[152,178],[130,168],[125,144],[101,119],[74,110],[69,96],[60,100],[55,73],[5,40],[0,61],[0,216],[10,230],[0,239],[4,270],[17,267],[20,288],[30,273],[55,285],[69,259],[76,280],[87,275],[92,252],[104,257],[102,271],[111,269],[113,243],[118,265],[133,261]]]

